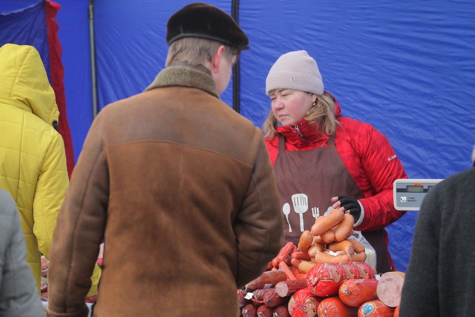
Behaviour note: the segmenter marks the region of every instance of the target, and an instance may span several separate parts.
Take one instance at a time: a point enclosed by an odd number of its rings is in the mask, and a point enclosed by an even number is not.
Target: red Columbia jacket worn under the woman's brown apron
[[[340,105],[336,102],[335,114],[341,125],[337,127],[335,146],[365,196],[360,199],[364,208],[364,218],[355,229],[372,231],[385,228],[405,213],[394,208],[393,182],[398,178],[407,178],[407,174],[383,133],[370,124],[346,118],[340,115],[340,112]],[[286,137],[286,151],[306,151],[322,145],[327,146],[327,135],[322,135],[309,127],[305,119],[298,121],[297,124],[300,133],[307,140],[300,137],[293,128],[294,125],[276,128],[277,132]],[[273,165],[278,154],[278,138],[266,140],[266,145]],[[388,244],[387,237],[386,241]]]

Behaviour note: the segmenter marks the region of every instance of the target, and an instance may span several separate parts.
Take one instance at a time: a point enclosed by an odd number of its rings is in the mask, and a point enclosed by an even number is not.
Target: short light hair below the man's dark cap
[[[171,43],[165,66],[168,67],[174,62],[187,62],[193,66],[203,64],[205,61],[211,62],[220,46],[224,46],[224,56],[229,62],[232,62],[234,56],[236,58],[239,56],[237,48],[226,44],[204,38],[184,37]]]

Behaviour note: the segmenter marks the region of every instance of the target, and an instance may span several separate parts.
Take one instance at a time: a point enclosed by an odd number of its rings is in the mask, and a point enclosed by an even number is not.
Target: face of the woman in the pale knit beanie
[[[313,107],[316,95],[302,90],[275,89],[270,95],[272,113],[282,125],[294,124]]]

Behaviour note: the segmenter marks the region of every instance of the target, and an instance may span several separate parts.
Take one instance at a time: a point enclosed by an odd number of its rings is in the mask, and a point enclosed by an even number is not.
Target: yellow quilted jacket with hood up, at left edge
[[[69,184],[55,93],[36,49],[0,48],[0,188],[16,201],[38,290]],[[96,273],[96,276],[98,274]],[[97,290],[97,286],[95,287]]]

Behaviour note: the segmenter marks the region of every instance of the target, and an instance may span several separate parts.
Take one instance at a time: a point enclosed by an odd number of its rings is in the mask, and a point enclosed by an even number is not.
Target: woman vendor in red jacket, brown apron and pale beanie
[[[297,244],[318,215],[341,208],[375,249],[377,273],[394,270],[385,227],[405,213],[394,208],[392,190],[394,180],[407,174],[388,139],[370,124],[340,114],[306,51],[277,59],[266,93],[272,111],[263,132],[287,240]]]

